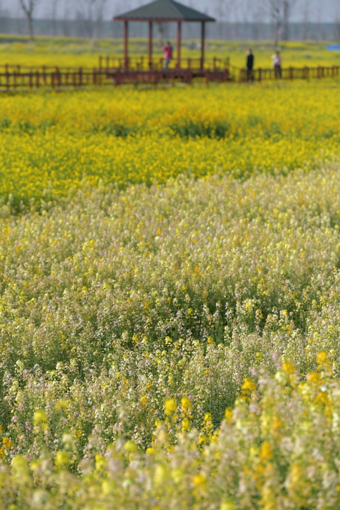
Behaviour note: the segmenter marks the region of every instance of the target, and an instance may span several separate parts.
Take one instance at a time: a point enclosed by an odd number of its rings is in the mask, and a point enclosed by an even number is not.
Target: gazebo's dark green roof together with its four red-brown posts
[[[181,24],[184,21],[196,21],[201,23],[201,59],[200,65],[203,69],[204,64],[204,39],[205,23],[215,21],[214,18],[207,16],[195,9],[191,9],[183,4],[174,2],[174,0],[155,0],[150,4],[138,7],[113,18],[115,21],[124,21],[124,63],[125,69],[128,69],[128,22],[129,21],[147,21],[149,23],[149,69],[152,66],[152,23],[162,23],[174,21],[177,23],[177,68],[180,68],[180,46],[181,46]]]

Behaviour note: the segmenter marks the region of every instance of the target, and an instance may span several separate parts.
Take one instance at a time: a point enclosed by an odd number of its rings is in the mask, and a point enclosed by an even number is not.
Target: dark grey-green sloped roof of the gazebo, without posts
[[[155,0],[132,11],[115,16],[117,21],[215,21],[191,7],[174,0]]]

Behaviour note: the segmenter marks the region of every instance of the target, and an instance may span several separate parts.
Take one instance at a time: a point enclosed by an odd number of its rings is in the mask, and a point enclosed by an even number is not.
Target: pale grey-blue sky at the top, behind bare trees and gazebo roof
[[[57,17],[73,17],[77,6],[82,5],[86,0],[38,0],[35,11],[36,18],[51,17],[52,4],[57,3]],[[222,6],[223,18],[229,21],[252,21],[256,17],[259,21],[267,21],[264,13],[258,12],[258,0],[179,0],[181,3],[193,7],[202,12],[215,16],[218,15]],[[28,0],[25,0],[28,2]],[[112,16],[121,12],[147,4],[148,0],[106,0],[105,19],[112,19]],[[12,16],[20,16],[19,0],[0,0],[0,10],[7,10]],[[292,21],[340,21],[340,0],[296,0],[296,6],[292,13]]]

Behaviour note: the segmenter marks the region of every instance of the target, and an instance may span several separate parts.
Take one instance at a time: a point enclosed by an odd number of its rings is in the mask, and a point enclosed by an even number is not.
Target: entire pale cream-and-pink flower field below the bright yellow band
[[[336,507],[339,175],[3,206],[3,507]]]

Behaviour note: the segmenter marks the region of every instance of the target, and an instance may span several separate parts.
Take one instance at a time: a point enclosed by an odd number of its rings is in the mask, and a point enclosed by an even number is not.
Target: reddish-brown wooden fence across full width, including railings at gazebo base
[[[142,59],[142,58],[141,58]],[[181,81],[191,83],[194,79],[203,79],[206,82],[261,82],[264,80],[296,80],[296,79],[321,79],[336,78],[340,75],[340,67],[286,67],[281,72],[274,69],[254,69],[252,72],[246,69],[227,65],[226,61],[212,59],[204,69],[201,69],[197,60],[187,59],[181,61],[181,67],[163,69],[162,62],[159,66],[145,69],[144,64],[140,68],[142,60],[136,59],[136,68],[125,69],[113,67],[114,62],[106,61],[109,67],[85,68],[85,67],[48,67],[48,66],[0,66],[0,90],[11,91],[34,88],[79,88],[83,86],[119,85],[123,83],[162,83]],[[118,59],[119,60],[119,59]],[[184,63],[186,62],[186,66]],[[211,65],[208,65],[211,64]]]

